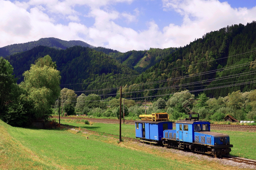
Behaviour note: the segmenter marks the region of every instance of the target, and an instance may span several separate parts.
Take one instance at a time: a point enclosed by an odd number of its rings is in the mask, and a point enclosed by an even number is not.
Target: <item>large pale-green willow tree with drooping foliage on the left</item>
[[[23,73],[24,82],[20,86],[25,90],[21,99],[29,105],[29,112],[37,119],[47,119],[52,113],[51,105],[60,95],[60,71],[49,55],[37,59],[30,70]]]

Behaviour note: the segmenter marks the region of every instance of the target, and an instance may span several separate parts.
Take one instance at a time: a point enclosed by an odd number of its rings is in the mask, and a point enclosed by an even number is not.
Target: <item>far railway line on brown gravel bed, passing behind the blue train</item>
[[[58,116],[52,116],[53,118],[59,118]],[[112,121],[119,122],[119,119],[97,119],[97,118],[87,118],[87,117],[60,117],[61,119],[87,119],[87,120],[97,120],[97,121]],[[123,120],[122,120],[123,122]],[[126,123],[134,122],[134,120],[125,120]],[[175,124],[175,123],[173,123]],[[243,128],[256,128],[253,125],[224,125],[224,124],[211,124],[211,126],[222,126],[222,127],[243,127]]]

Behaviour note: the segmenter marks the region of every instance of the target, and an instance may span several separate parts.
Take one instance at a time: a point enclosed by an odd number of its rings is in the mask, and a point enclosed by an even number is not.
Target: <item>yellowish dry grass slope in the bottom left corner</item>
[[[9,131],[16,131],[0,120],[0,169],[60,169],[51,162],[38,157],[31,149],[25,147],[19,140],[13,138]]]

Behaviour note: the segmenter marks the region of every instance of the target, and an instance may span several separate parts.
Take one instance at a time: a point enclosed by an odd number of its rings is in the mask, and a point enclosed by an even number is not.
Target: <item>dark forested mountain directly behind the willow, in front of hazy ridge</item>
[[[123,66],[107,54],[97,52],[88,47],[74,46],[66,50],[57,50],[45,46],[37,46],[31,50],[6,57],[14,68],[13,72],[18,78],[17,83],[23,80],[22,73],[29,70],[30,65],[37,58],[45,55],[50,55],[52,61],[56,62],[57,70],[61,72],[62,85],[77,84],[84,80],[85,82],[91,82],[94,80],[111,80],[136,75],[135,71],[127,66]],[[118,87],[120,84],[126,84],[126,81],[129,81],[129,79],[96,83],[89,90]],[[68,88],[81,91],[82,88],[88,90],[87,86],[90,87],[90,84],[68,85]]]

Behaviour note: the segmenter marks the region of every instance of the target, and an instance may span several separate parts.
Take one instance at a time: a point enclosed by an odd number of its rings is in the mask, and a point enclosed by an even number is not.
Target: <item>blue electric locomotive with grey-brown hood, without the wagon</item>
[[[213,154],[215,157],[228,155],[233,147],[228,135],[211,132],[210,122],[206,121],[176,121],[176,130],[165,130],[163,135],[165,146]]]

